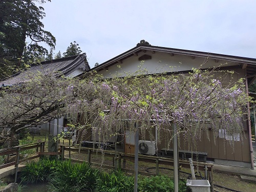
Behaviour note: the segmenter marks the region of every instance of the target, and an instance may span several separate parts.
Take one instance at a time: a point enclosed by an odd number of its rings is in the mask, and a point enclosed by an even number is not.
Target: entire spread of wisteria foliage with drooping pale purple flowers
[[[38,74],[22,86],[2,92],[0,124],[18,131],[31,122],[55,118],[59,108],[60,114],[69,114],[71,123],[83,122],[78,123],[81,133],[92,130],[101,142],[124,129],[139,129],[142,139],[148,133],[155,140],[157,126],[158,142],[165,140],[169,145],[173,122],[189,148],[196,147],[203,132],[209,138],[209,127],[215,138],[220,130],[231,136],[243,134],[243,109],[249,101],[244,79],[225,82],[232,72],[193,71],[157,76],[139,71],[112,79],[90,74],[82,80]]]

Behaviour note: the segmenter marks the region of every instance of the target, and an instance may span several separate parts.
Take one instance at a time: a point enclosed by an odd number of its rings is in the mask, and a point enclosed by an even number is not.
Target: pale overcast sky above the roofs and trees
[[[74,40],[90,67],[151,45],[256,58],[256,1],[52,0],[42,5],[54,53]]]

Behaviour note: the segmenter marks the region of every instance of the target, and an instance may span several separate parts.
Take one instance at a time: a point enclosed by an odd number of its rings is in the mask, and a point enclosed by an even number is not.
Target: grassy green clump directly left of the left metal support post
[[[96,192],[132,192],[134,177],[126,176],[123,172],[103,172],[97,179]]]

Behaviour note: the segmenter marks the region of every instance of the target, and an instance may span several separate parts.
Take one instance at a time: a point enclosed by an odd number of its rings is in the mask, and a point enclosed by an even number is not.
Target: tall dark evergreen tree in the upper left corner
[[[35,2],[43,4],[46,1],[50,0],[0,1],[0,58],[17,61],[22,58],[25,47],[33,54],[48,53],[38,42],[55,47],[55,37],[44,30],[44,24],[40,21],[45,17],[44,8],[35,5]],[[27,38],[30,42],[26,46]]]

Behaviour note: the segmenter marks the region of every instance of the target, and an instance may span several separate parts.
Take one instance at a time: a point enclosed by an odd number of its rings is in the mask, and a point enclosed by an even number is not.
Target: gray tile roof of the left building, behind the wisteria
[[[26,82],[30,78],[33,78],[37,73],[48,74],[52,72],[60,72],[63,75],[66,75],[67,73],[72,72],[72,70],[77,68],[79,65],[82,65],[84,59],[86,59],[86,54],[44,61],[39,64],[32,64],[27,70],[17,73],[9,79],[0,82],[0,87],[3,87],[3,85],[12,86],[14,84]],[[90,67],[87,62],[85,65],[84,69],[89,70]]]

